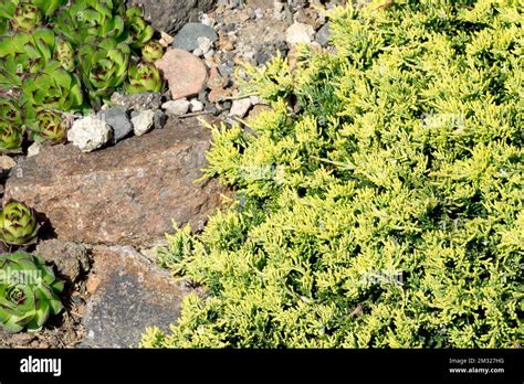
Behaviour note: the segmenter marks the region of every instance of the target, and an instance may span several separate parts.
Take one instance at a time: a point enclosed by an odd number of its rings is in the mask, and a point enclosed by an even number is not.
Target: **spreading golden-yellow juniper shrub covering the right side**
[[[522,14],[348,6],[336,54],[252,70],[272,110],[208,157],[238,201],[163,253],[208,294],[142,345],[522,346]]]

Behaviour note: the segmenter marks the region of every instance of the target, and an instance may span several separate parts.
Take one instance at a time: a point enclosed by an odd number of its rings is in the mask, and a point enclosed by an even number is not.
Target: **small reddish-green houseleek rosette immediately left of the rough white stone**
[[[30,137],[35,142],[65,142],[67,139],[67,122],[56,110],[41,110],[30,125]]]

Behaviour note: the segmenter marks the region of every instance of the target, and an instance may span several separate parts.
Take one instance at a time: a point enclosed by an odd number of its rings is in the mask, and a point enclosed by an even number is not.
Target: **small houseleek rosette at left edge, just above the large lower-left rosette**
[[[34,211],[24,203],[11,201],[0,212],[0,241],[8,245],[30,244],[39,227]]]

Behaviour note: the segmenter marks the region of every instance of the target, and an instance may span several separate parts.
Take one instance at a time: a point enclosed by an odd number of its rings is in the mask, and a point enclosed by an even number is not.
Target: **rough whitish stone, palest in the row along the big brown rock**
[[[67,140],[83,152],[92,152],[111,140],[113,130],[103,120],[87,116],[73,122],[67,132]]]

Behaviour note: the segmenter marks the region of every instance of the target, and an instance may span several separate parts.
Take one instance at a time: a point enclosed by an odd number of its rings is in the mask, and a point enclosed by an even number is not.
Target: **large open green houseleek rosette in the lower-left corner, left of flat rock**
[[[0,255],[0,328],[38,331],[63,306],[64,282],[44,262],[25,252]]]

